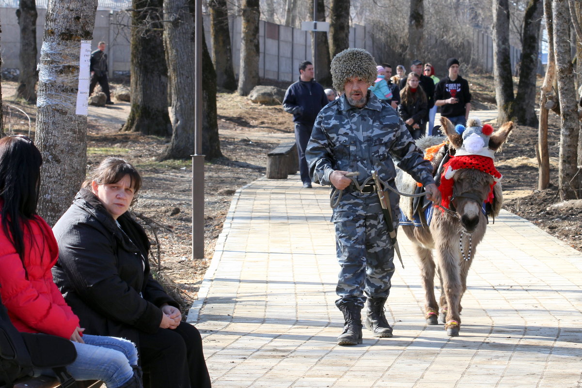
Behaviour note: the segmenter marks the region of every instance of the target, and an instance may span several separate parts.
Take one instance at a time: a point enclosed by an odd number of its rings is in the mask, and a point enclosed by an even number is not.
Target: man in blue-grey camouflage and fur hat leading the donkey
[[[392,337],[384,304],[394,273],[394,246],[375,186],[364,186],[371,170],[395,188],[395,158],[401,169],[424,185],[429,200],[440,203],[440,193],[432,179],[430,162],[424,160],[398,113],[368,92],[376,78],[376,63],[370,53],[354,48],[340,52],[332,60],[331,73],[333,87],[343,95],[325,106],[315,119],[306,156],[315,183],[344,190],[332,216],[341,266],[336,306],[345,318],[338,344],[356,345],[362,342],[364,304],[366,327],[374,336]],[[363,186],[361,191],[345,176],[348,172],[359,173],[352,179]],[[392,191],[386,191],[386,195],[396,229],[399,196]]]

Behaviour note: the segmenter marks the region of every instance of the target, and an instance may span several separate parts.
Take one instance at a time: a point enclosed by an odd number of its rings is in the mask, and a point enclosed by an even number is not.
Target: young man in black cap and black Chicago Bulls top
[[[459,60],[456,58],[449,58],[446,67],[449,76],[439,81],[435,88],[435,105],[442,106],[441,116],[455,125],[465,125],[471,111],[469,82],[459,76]]]

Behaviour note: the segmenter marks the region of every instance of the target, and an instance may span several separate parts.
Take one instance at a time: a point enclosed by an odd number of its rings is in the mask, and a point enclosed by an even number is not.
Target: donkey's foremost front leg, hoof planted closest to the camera
[[[461,325],[459,301],[462,289],[459,273],[459,255],[454,248],[447,246],[446,242],[441,247],[438,247],[438,251],[443,293],[448,307],[445,329],[449,336],[458,336]]]

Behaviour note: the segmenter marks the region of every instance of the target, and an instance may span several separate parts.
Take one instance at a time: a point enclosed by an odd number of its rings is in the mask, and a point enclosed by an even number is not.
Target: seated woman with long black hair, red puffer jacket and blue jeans
[[[40,152],[24,136],[0,139],[0,296],[20,332],[73,341],[77,358],[67,366],[76,380],[102,380],[108,388],[143,388],[130,341],[83,335],[79,318],[52,280],[58,245],[36,214]],[[51,370],[42,374],[53,375]]]

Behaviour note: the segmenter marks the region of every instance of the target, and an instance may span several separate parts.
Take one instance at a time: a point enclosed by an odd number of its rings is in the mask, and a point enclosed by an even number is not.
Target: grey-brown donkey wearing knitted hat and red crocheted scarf
[[[496,171],[492,158],[512,129],[513,122],[503,124],[492,133],[492,127],[482,126],[479,119],[470,118],[465,128],[459,125],[453,127],[449,119],[441,118],[441,130],[446,134],[452,149],[448,150],[443,145],[431,163],[437,170],[437,184],[440,180],[443,208],[432,209],[432,219],[428,226],[426,223],[421,227],[402,226],[420,258],[427,323],[438,325],[439,305],[434,293],[436,269],[441,280],[440,318],[449,336],[459,335],[460,301],[467,289],[467,272],[475,256],[475,247],[483,239],[488,222],[483,211],[485,202],[488,202],[494,217],[501,210],[501,185],[496,182],[501,174]],[[430,138],[438,137],[421,138],[419,141]],[[439,138],[439,143],[442,139]],[[441,175],[439,165],[443,165],[443,158],[447,154],[453,153],[456,156],[450,156],[450,161],[444,163],[445,170]],[[406,173],[398,184],[399,190],[404,193],[413,193],[417,187],[416,182]],[[406,197],[400,201],[400,208],[407,218],[413,219],[411,201],[407,201]],[[432,250],[436,252],[436,264]]]

